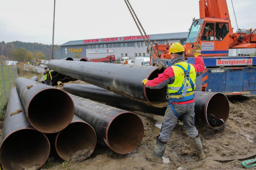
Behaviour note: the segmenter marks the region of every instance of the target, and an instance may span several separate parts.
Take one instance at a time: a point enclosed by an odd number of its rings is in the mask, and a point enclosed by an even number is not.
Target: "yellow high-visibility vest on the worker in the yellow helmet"
[[[172,84],[167,84],[167,90],[168,90],[168,95],[180,95],[177,94],[177,92],[180,90],[180,88],[182,87],[183,81],[184,81],[184,77],[185,77],[185,73],[183,71],[182,68],[180,68],[179,66],[176,65],[180,65],[182,66],[185,70],[187,70],[188,68],[188,63],[187,62],[180,62],[180,63],[176,63],[174,64],[172,67],[173,72],[174,72],[174,82]],[[194,84],[194,89],[192,89],[192,86],[190,84],[190,82],[187,80],[186,83],[188,83],[188,90],[187,92],[191,92],[194,91],[196,88],[196,70],[195,67],[191,64],[190,65],[190,71],[189,71],[189,77],[192,80],[193,84]],[[182,90],[183,91],[183,90]],[[182,92],[181,91],[181,92]]]

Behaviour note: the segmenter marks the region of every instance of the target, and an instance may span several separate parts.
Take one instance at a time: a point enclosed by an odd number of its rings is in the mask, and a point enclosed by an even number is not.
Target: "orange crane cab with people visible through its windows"
[[[202,18],[193,20],[186,40],[185,53],[194,57],[192,48],[199,43],[203,56],[226,56],[229,53],[229,19]],[[232,30],[232,29],[231,29]]]

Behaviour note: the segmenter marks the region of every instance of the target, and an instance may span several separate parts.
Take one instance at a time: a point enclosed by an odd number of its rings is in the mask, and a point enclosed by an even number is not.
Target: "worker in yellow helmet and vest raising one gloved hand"
[[[158,74],[158,77],[153,80],[142,80],[142,84],[150,89],[162,89],[166,86],[167,98],[169,99],[161,131],[156,137],[154,152],[153,154],[147,153],[145,155],[145,158],[149,161],[162,163],[162,156],[164,155],[167,142],[170,140],[169,136],[180,116],[182,116],[183,127],[187,135],[194,141],[198,157],[200,159],[206,158],[198,130],[194,124],[195,79],[205,70],[201,56],[201,45],[196,44],[193,50],[195,64],[185,62],[183,56],[184,51],[185,49],[180,43],[173,43],[169,48],[173,65],[166,68],[162,74]]]

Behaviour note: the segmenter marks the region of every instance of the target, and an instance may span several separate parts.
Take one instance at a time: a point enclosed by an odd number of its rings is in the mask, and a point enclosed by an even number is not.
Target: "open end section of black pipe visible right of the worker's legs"
[[[195,103],[195,124],[218,129],[224,124],[212,125],[209,120],[228,120],[229,101],[223,93],[195,91]]]

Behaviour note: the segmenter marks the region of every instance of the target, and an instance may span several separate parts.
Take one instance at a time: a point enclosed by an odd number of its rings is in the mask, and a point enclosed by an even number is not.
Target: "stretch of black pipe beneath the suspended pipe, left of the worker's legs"
[[[105,90],[92,84],[73,84],[67,83],[63,86],[63,90],[76,96],[96,100],[114,105],[116,107],[123,106],[146,113],[164,115],[166,108],[152,107],[144,103],[137,102],[127,97],[116,94],[112,91]]]

